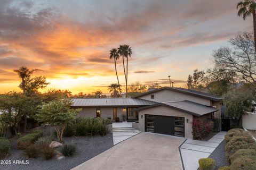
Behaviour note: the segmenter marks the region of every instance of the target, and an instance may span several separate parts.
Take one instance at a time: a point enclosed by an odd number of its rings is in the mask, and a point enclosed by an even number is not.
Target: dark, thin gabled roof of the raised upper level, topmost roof
[[[141,95],[138,95],[134,98],[137,98],[137,97],[140,97],[140,96],[145,96],[145,95],[151,94],[153,92],[157,92],[157,91],[164,90],[164,89],[177,91],[177,92],[182,92],[182,93],[185,93],[185,94],[189,94],[189,95],[193,95],[193,96],[197,96],[197,97],[202,97],[202,98],[206,98],[206,99],[210,99],[210,100],[214,100],[214,101],[222,100],[222,98],[220,96],[215,96],[215,95],[207,94],[205,92],[200,92],[200,91],[196,91],[196,90],[190,90],[190,89],[185,89],[185,88],[174,88],[174,87],[163,87],[163,88],[160,88],[160,89],[150,90],[150,91],[145,92]]]

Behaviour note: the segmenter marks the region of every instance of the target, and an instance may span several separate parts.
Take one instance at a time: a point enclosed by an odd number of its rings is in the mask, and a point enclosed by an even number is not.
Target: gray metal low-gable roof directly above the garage
[[[188,100],[163,102],[163,103],[158,103],[158,104],[154,104],[151,106],[141,107],[141,108],[138,108],[137,110],[140,111],[142,109],[147,109],[147,108],[156,107],[156,106],[172,107],[174,109],[178,109],[180,111],[185,111],[187,113],[193,114],[198,117],[205,115],[205,114],[219,111],[219,109],[217,109],[217,108],[201,105],[201,104],[194,103],[194,102],[188,101]]]

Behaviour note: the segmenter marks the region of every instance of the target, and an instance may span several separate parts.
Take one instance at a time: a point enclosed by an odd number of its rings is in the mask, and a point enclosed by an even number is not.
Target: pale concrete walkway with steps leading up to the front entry
[[[112,131],[114,145],[140,133],[140,131],[132,128],[131,122],[114,122],[112,124]]]

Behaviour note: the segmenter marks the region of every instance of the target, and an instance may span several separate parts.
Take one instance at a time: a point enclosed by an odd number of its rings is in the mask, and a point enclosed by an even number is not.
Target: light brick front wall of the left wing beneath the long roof
[[[113,107],[83,107],[82,111],[78,115],[82,117],[96,117],[96,108],[100,108],[101,117],[110,117],[111,120],[113,120]],[[126,109],[124,110],[123,107],[117,107],[117,117],[119,117],[120,121],[123,121],[123,115],[126,117]]]

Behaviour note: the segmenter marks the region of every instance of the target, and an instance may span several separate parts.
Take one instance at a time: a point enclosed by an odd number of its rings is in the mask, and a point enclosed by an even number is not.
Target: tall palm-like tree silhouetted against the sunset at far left
[[[29,70],[26,66],[21,66],[18,70],[13,70],[15,73],[18,73],[19,77],[21,78],[21,83],[19,87],[23,90],[23,94],[26,94],[26,79],[30,78],[30,76],[37,71],[42,71],[39,69],[32,69]]]

